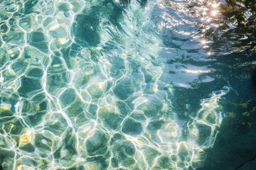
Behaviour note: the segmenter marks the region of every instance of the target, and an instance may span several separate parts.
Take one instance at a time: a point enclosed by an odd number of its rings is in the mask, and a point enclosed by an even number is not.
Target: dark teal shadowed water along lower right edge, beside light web
[[[224,104],[225,118],[223,118],[220,132],[214,147],[206,150],[208,155],[206,162],[199,170],[256,169],[255,84],[252,79],[244,79],[242,82],[237,81],[237,84],[235,81],[231,82],[231,85],[239,95],[228,94],[226,96],[229,101]]]

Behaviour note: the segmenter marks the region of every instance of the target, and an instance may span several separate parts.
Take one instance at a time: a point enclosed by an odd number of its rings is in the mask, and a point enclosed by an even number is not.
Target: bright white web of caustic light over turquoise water
[[[171,107],[139,1],[1,1],[3,169],[196,169],[227,90],[187,122]]]

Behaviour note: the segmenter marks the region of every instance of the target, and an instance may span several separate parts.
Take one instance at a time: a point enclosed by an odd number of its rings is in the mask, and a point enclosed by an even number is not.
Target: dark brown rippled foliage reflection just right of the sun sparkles
[[[221,16],[218,38],[220,44],[230,42],[231,52],[252,50],[255,52],[256,5],[250,0],[225,0],[220,4]],[[216,34],[215,34],[216,35]],[[218,41],[217,41],[218,42]],[[222,43],[223,42],[223,43]],[[231,50],[231,49],[230,49]],[[229,51],[230,52],[230,51]]]

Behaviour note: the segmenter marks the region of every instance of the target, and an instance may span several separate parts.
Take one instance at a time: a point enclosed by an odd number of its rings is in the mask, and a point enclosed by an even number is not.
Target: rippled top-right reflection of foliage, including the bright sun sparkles
[[[213,53],[256,52],[256,4],[251,0],[162,0],[161,5],[199,18],[194,24],[207,43],[213,42]]]

